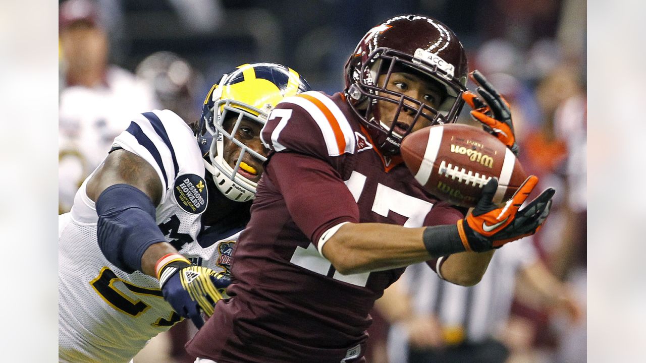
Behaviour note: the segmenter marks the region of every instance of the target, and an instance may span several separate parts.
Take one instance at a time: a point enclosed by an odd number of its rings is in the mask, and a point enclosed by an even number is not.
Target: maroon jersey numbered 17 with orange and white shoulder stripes
[[[320,236],[342,222],[421,227],[463,213],[384,158],[341,94],[284,99],[262,138],[271,154],[236,244],[231,298],[187,350],[218,363],[364,362],[369,312],[404,269],[341,275]]]

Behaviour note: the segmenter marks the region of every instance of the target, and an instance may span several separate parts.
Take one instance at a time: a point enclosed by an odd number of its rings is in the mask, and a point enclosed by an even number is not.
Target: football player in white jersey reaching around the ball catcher
[[[291,68],[245,64],[213,85],[193,127],[170,110],[132,119],[59,216],[59,362],[126,363],[182,318],[202,326],[249,220],[260,129],[306,90]]]

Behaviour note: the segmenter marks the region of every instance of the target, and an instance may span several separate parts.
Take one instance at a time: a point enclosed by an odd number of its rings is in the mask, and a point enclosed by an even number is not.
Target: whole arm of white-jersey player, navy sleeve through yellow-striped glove
[[[164,299],[196,327],[200,313],[213,314],[229,278],[192,265],[166,242],[156,223],[163,190],[154,168],[126,150],[110,153],[87,185],[99,216],[98,244],[105,257],[123,271],[141,271],[160,280]]]

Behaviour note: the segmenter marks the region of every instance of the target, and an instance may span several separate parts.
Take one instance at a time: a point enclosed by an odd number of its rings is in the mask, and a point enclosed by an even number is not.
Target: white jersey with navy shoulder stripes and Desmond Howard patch
[[[201,152],[183,119],[169,110],[141,114],[113,147],[134,152],[157,171],[165,191],[156,222],[167,242],[196,264],[225,270],[238,233],[207,248],[196,242],[208,196]],[[89,178],[72,211],[59,216],[59,362],[127,363],[180,317],[163,300],[156,278],[125,273],[101,253],[96,208],[85,192]]]

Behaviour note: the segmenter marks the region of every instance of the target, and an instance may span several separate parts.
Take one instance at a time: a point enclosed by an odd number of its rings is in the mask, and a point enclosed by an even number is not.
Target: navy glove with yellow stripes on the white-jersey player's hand
[[[190,318],[200,329],[204,320],[200,312],[213,315],[213,306],[222,299],[231,280],[221,273],[188,260],[171,262],[158,271],[161,293],[179,315]]]

